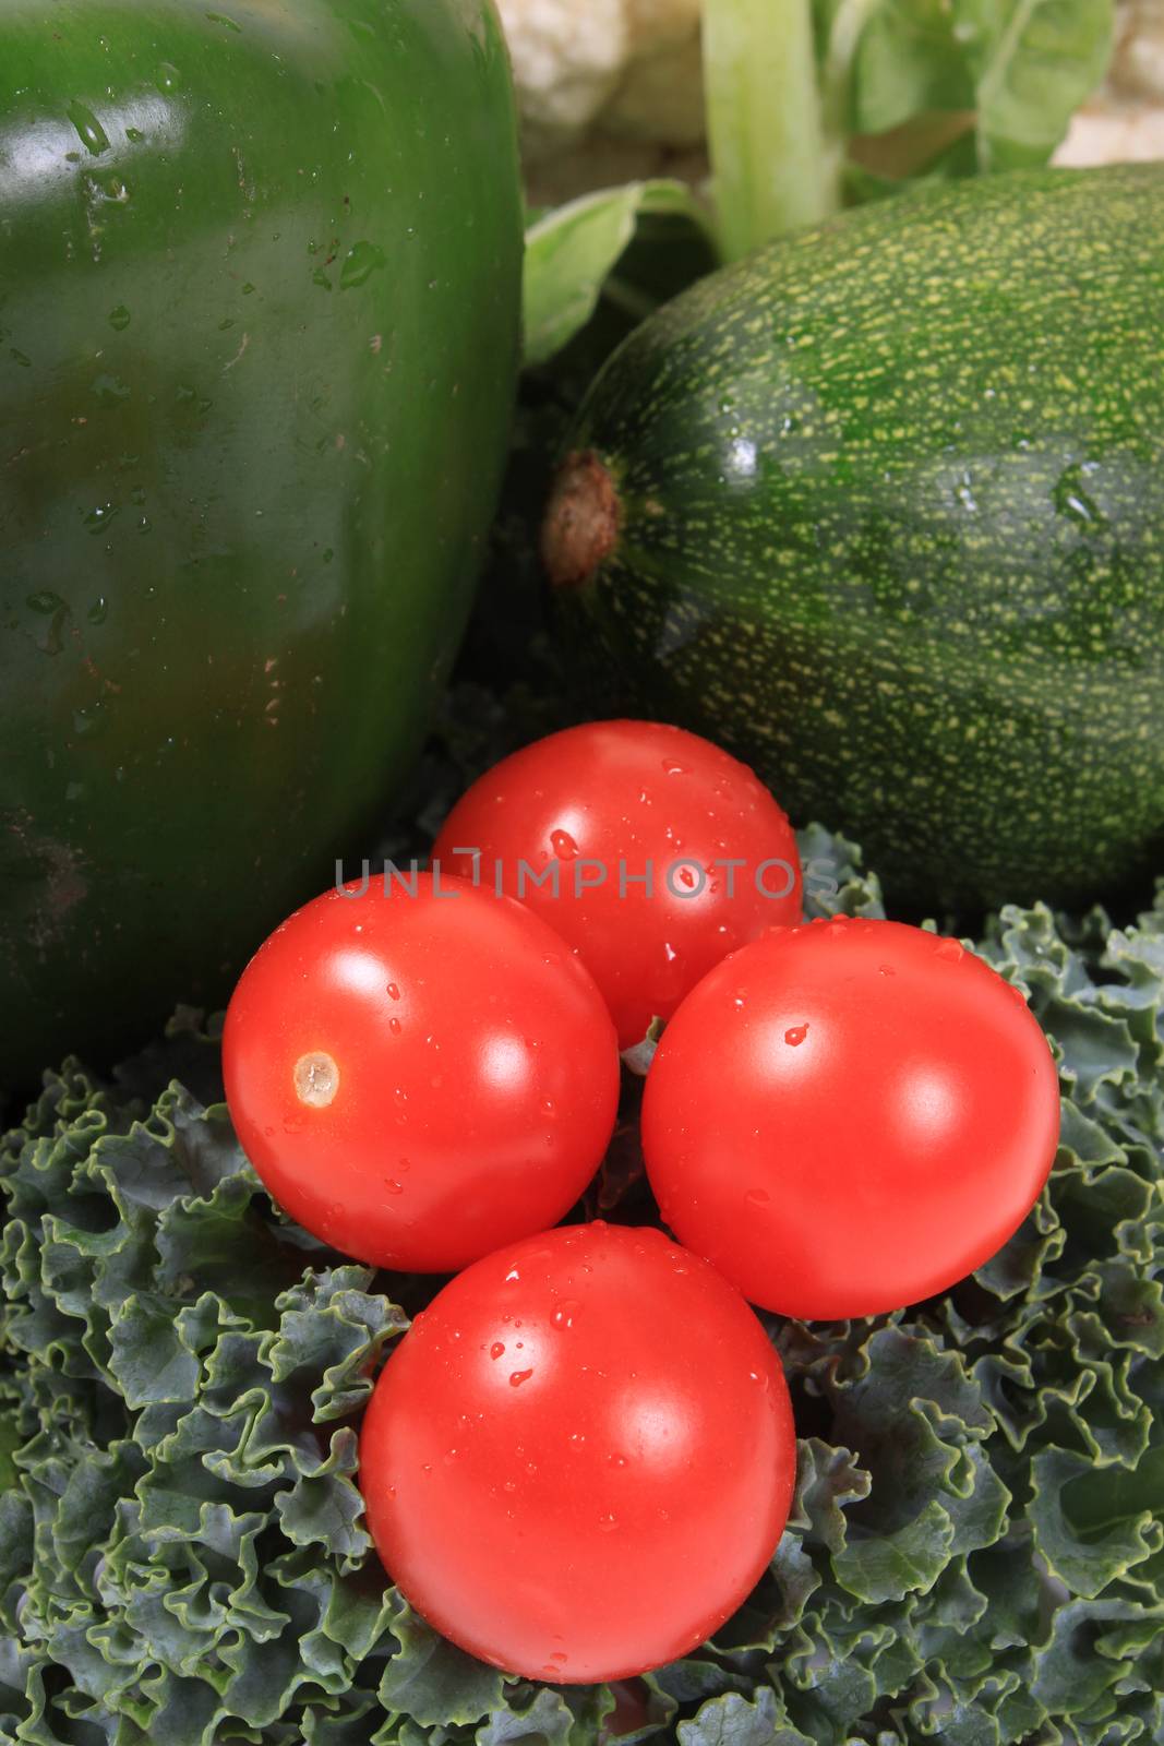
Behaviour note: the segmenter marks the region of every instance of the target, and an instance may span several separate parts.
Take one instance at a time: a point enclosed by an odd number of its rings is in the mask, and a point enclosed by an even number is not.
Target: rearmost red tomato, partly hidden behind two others
[[[504,758],[452,808],[433,856],[464,878],[476,868],[569,941],[621,1049],[735,946],[801,917],[796,836],[768,789],[719,746],[654,721],[592,721]]]

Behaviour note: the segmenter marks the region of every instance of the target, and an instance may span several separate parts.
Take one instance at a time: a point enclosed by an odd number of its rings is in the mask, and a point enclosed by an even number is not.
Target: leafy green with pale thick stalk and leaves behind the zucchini
[[[705,0],[728,260],[920,175],[1042,164],[1103,79],[1113,0]]]

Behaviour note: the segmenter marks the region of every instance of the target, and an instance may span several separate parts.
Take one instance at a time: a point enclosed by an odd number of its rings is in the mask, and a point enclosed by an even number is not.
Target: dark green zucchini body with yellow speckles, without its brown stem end
[[[1164,828],[1164,169],[951,185],[773,244],[614,354],[560,588],[623,702],[925,904],[1080,899]],[[581,643],[579,643],[581,639]]]

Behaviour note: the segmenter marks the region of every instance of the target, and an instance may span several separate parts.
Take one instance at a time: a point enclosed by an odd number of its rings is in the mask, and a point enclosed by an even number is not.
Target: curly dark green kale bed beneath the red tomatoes
[[[483,754],[447,735],[450,763]],[[853,849],[820,828],[801,849],[815,913],[881,913]],[[183,1014],[112,1084],[47,1076],[0,1151],[0,1737],[1159,1741],[1164,889],[1122,929],[1005,910],[979,950],[1056,1048],[1049,1191],[948,1297],[770,1323],[803,1435],[789,1531],[710,1645],[616,1688],[506,1680],[386,1584],[354,1423],[429,1287],[272,1210],[215,1039]],[[639,1220],[618,1147],[604,1205]]]

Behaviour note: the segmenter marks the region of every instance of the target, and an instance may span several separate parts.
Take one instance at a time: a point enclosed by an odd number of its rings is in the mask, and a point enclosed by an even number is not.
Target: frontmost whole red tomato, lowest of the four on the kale
[[[778,1358],[661,1231],[564,1226],[459,1275],[375,1386],[368,1526],[429,1624],[531,1680],[620,1680],[735,1612],[784,1529]]]

